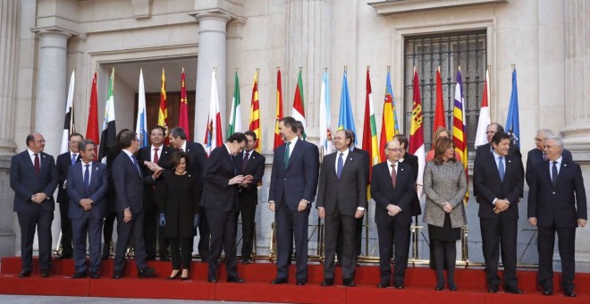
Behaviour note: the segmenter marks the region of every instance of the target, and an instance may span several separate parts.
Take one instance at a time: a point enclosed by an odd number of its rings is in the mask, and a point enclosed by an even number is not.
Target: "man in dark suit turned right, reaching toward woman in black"
[[[133,239],[135,264],[140,278],[156,276],[154,268],[146,264],[146,245],[143,235],[143,190],[145,184],[155,184],[163,170],[143,176],[137,158],[139,139],[135,132],[121,135],[122,151],[113,162],[113,182],[117,210],[117,234],[119,240],[114,256],[114,279],[120,279],[125,267],[125,251]]]

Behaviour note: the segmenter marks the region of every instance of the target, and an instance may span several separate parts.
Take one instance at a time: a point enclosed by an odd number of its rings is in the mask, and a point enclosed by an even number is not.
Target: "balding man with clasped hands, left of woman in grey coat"
[[[412,223],[412,200],[416,197],[416,178],[409,165],[400,163],[400,141],[393,139],[385,145],[387,160],[373,166],[371,196],[375,200],[375,224],[379,237],[378,288],[404,288],[408,267],[409,225]],[[392,279],[392,246],[395,247],[395,267]]]

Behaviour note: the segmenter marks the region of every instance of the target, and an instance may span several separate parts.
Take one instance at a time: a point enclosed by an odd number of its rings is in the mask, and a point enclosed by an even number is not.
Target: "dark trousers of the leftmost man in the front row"
[[[51,223],[54,221],[54,212],[41,210],[33,212],[17,212],[19,225],[21,225],[21,261],[22,270],[33,270],[33,241],[35,241],[35,229],[38,233],[39,244],[39,268],[41,271],[51,269]]]

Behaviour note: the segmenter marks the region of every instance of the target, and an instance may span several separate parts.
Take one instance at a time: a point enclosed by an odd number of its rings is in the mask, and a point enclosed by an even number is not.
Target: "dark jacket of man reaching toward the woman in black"
[[[117,213],[126,208],[131,208],[131,213],[143,211],[143,187],[156,182],[151,175],[144,178],[138,168],[124,151],[114,158],[112,170]]]

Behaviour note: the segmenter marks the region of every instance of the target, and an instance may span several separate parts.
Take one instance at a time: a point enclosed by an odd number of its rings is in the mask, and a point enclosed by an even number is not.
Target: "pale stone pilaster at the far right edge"
[[[565,146],[582,166],[586,193],[590,190],[590,5],[584,0],[564,1],[565,13]],[[586,194],[587,195],[587,194]],[[586,203],[586,202],[584,202]],[[590,272],[590,228],[578,228],[576,271]]]

